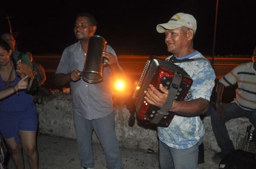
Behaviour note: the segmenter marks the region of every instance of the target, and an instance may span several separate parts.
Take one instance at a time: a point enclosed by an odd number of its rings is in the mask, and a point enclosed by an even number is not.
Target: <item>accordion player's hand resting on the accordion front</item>
[[[169,90],[164,88],[162,84],[160,84],[159,87],[163,93],[158,91],[153,85],[149,85],[149,88],[145,90],[144,93],[145,93],[145,99],[149,104],[152,104],[154,106],[161,108],[163,104],[166,102]]]

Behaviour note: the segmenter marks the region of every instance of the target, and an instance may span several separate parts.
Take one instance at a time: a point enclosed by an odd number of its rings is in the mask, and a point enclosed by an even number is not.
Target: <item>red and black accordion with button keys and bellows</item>
[[[175,115],[175,112],[169,111],[173,101],[185,99],[192,83],[193,80],[183,68],[172,62],[150,56],[132,96],[138,119],[157,124],[157,126],[168,127]],[[161,109],[148,104],[144,99],[144,91],[150,84],[161,93],[163,92],[159,88],[160,84],[169,90],[166,103]]]

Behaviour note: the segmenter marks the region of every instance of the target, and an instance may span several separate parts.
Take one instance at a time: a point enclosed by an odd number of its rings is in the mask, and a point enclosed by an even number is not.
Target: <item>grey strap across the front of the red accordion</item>
[[[182,76],[175,73],[172,79],[172,85],[169,89],[166,102],[163,104],[163,107],[159,110],[159,113],[155,115],[151,123],[158,124],[159,121],[163,118],[164,115],[167,115],[168,111],[172,108],[172,104],[175,100],[176,93],[180,87]]]

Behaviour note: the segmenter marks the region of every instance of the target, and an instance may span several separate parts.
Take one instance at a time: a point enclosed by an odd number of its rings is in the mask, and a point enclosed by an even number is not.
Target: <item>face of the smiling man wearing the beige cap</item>
[[[172,52],[175,56],[178,56],[183,49],[187,48],[189,40],[187,37],[187,31],[184,28],[177,28],[173,30],[166,29],[165,35],[165,42],[168,47],[168,51]]]

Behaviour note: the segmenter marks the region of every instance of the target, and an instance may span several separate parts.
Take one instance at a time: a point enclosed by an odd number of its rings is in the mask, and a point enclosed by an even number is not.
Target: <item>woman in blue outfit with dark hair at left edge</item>
[[[38,169],[36,131],[38,111],[31,94],[31,68],[21,60],[15,63],[9,44],[0,39],[0,133],[17,169],[24,169],[22,148],[30,169]]]

